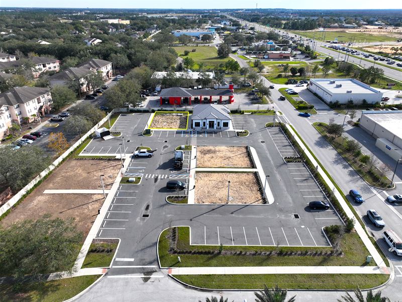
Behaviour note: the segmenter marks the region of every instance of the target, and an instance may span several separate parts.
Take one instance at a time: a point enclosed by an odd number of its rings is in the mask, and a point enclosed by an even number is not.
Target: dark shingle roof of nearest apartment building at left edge
[[[15,87],[0,94],[0,105],[15,106],[17,104],[24,104],[48,92],[50,92],[50,89],[48,88],[27,86]]]

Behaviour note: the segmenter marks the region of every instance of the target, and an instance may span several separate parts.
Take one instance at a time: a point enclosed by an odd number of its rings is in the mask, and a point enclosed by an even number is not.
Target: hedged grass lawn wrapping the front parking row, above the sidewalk
[[[177,249],[182,251],[213,251],[219,250],[219,246],[190,245],[189,228],[181,226],[177,232]],[[170,229],[162,232],[159,238],[159,260],[162,267],[204,267],[204,266],[360,266],[365,264],[369,255],[366,247],[357,233],[346,233],[340,241],[340,248],[344,256],[285,256],[285,255],[197,255],[197,254],[170,254],[169,250]],[[260,246],[223,246],[225,251],[276,251],[286,252],[330,252],[331,247],[260,247]],[[180,256],[181,262],[177,262]],[[372,261],[370,266],[374,266]]]

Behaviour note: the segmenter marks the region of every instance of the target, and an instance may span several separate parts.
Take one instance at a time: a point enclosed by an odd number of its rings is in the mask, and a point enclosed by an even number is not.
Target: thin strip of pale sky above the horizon
[[[0,8],[254,9],[256,4],[263,9],[402,9],[400,0],[0,0]]]

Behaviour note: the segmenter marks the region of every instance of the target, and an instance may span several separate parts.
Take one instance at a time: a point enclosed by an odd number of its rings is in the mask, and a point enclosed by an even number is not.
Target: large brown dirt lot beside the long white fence
[[[12,209],[0,223],[4,226],[22,219],[36,219],[45,213],[52,217],[75,217],[78,229],[85,236],[104,202],[103,194],[43,194],[47,189],[110,189],[119,173],[119,161],[68,160],[43,183]]]

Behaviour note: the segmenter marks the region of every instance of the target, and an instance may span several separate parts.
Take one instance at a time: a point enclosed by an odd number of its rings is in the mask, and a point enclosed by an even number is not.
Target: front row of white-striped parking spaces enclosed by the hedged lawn
[[[226,246],[329,246],[321,228],[306,226],[219,226],[191,227],[192,245]]]

